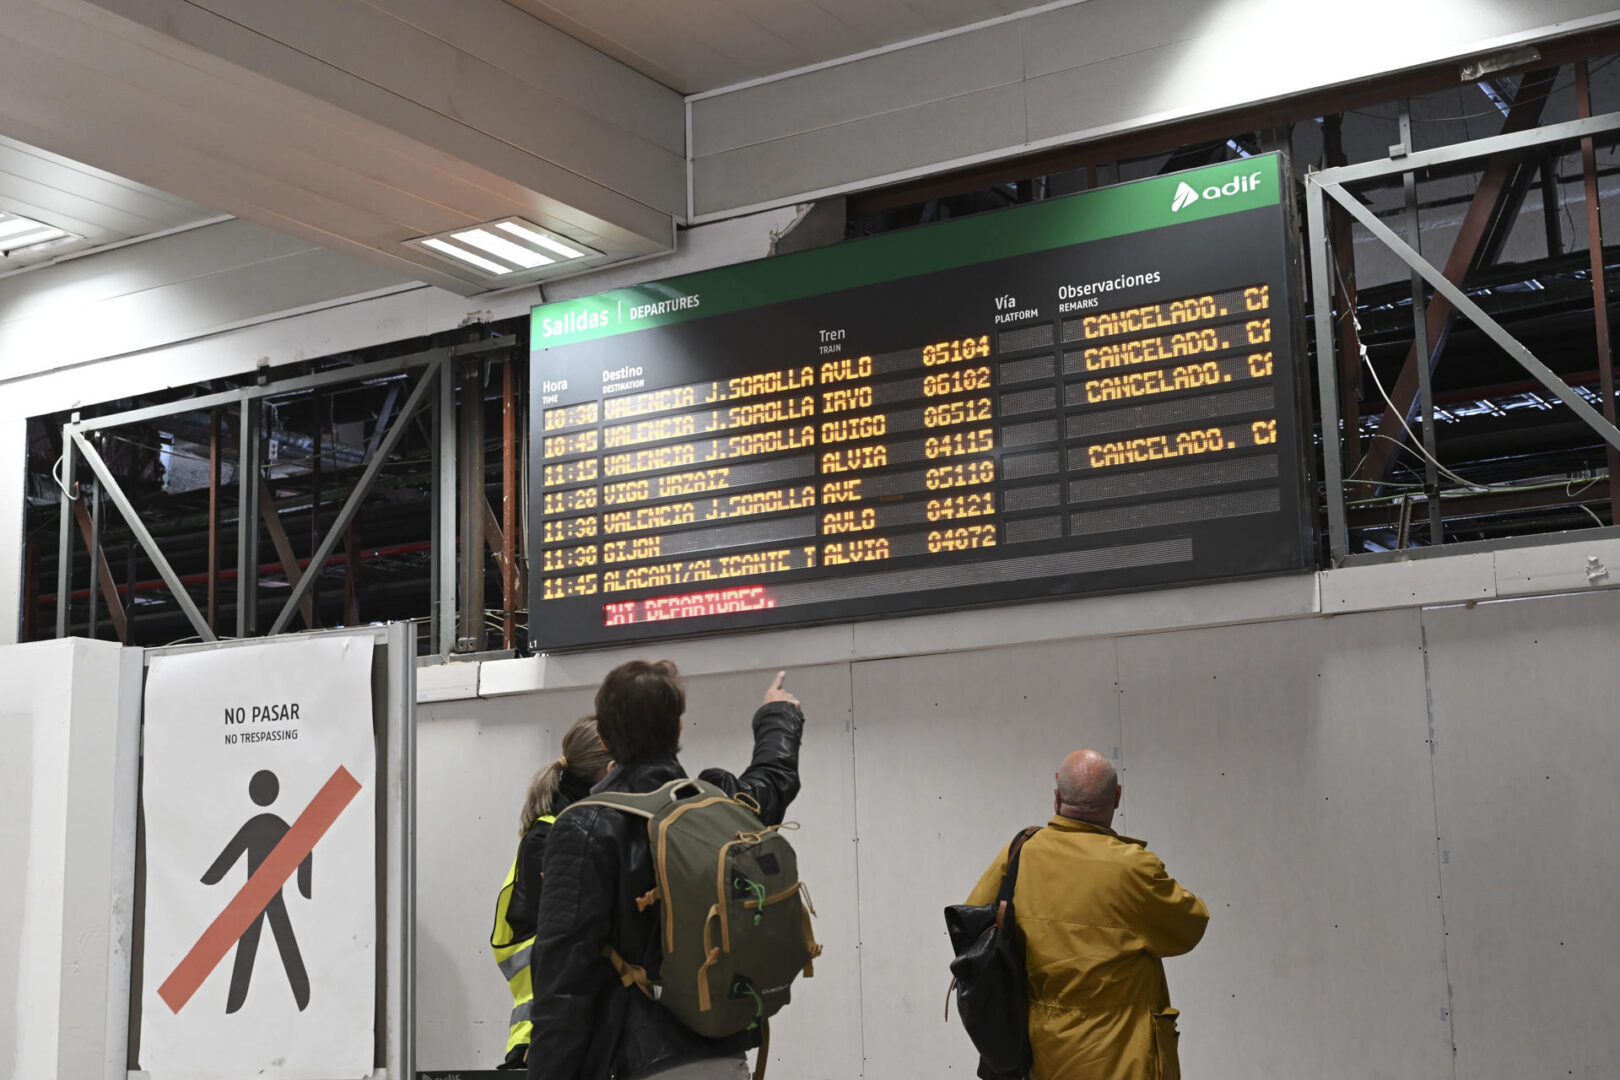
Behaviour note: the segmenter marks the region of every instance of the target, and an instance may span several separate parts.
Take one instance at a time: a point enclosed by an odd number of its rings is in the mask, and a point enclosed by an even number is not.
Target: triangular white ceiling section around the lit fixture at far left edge
[[[196,202],[5,136],[0,136],[0,210],[79,238],[0,256],[0,274],[217,217]]]

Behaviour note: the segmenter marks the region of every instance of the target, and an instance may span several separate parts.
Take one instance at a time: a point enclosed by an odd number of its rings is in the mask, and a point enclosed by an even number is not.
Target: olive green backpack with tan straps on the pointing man
[[[752,798],[703,780],[671,780],[645,795],[604,792],[569,810],[593,805],[646,819],[656,886],[637,907],[661,905],[658,983],[609,946],[603,954],[620,981],[708,1038],[760,1027],[786,1006],[794,976],[813,975],[821,946],[782,826],[766,827]]]

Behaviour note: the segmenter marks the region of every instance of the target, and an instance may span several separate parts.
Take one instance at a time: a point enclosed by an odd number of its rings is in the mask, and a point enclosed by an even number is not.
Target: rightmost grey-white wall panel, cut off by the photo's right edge
[[[1456,1075],[1620,1072],[1620,596],[1424,612]]]

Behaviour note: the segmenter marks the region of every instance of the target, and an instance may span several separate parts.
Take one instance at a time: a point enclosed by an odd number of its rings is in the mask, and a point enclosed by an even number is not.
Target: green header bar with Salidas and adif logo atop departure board
[[[541,304],[530,316],[530,348],[538,351],[552,345],[590,342],[1277,206],[1281,198],[1280,160],[1277,154],[1249,157],[956,222]]]

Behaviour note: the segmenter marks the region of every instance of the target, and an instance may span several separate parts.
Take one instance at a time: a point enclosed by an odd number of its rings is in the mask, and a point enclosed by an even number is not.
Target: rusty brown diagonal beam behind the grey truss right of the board
[[[1557,68],[1533,71],[1524,76],[1520,83],[1518,100],[1515,100],[1513,110],[1502,125],[1505,131],[1529,128],[1541,118],[1555,76]],[[1403,112],[1401,115],[1405,117],[1406,113]],[[1482,139],[1482,142],[1489,142],[1489,139]],[[1403,128],[1403,146],[1411,146],[1409,121]],[[1408,154],[1401,160],[1409,162],[1411,157]],[[1414,207],[1418,201],[1416,170],[1408,167],[1401,173],[1406,188],[1406,204],[1408,207]],[[1476,270],[1495,257],[1507,236],[1502,222],[1511,217],[1510,210],[1523,201],[1523,189],[1531,175],[1531,170],[1524,167],[1523,151],[1497,154],[1486,164],[1479,186],[1474,189],[1474,198],[1468,206],[1468,214],[1458,228],[1456,241],[1452,244],[1452,254],[1445,261],[1447,279],[1461,283],[1469,270]],[[1416,210],[1409,212],[1416,214]],[[1421,280],[1414,277],[1413,285],[1414,295],[1419,295],[1422,291]],[[1414,308],[1421,306],[1421,303],[1414,303]],[[1395,455],[1400,452],[1401,440],[1406,436],[1406,424],[1416,411],[1422,385],[1445,350],[1453,319],[1452,304],[1435,296],[1424,322],[1418,325],[1413,347],[1406,353],[1406,361],[1401,364],[1401,371],[1390,387],[1390,402],[1395,408],[1385,410],[1379,419],[1379,432],[1367,449],[1367,457],[1356,468],[1356,479],[1372,481],[1377,486],[1388,474],[1390,466],[1395,463]]]

